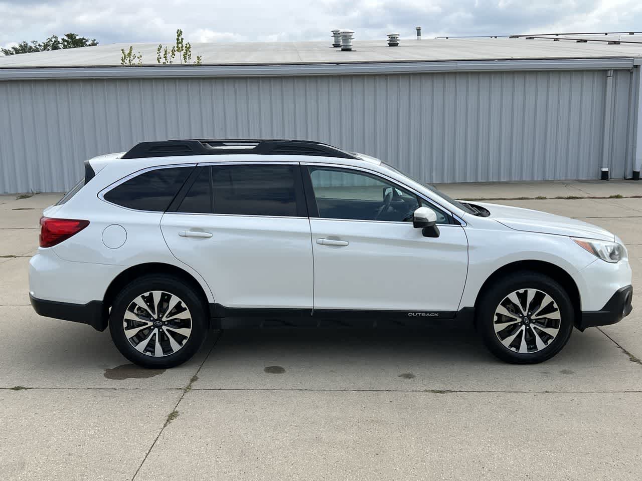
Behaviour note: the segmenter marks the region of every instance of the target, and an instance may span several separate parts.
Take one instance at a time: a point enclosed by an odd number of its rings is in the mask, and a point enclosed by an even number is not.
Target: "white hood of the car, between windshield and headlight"
[[[490,211],[490,219],[494,219],[514,230],[586,237],[587,239],[599,239],[600,241],[615,240],[615,235],[611,232],[577,219],[508,205],[481,202],[474,202],[473,204],[487,208]]]

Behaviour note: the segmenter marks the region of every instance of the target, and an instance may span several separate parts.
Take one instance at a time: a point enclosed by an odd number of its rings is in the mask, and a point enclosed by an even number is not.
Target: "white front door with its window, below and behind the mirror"
[[[468,264],[464,229],[449,214],[364,171],[308,165],[317,310],[453,315]],[[412,226],[420,205],[437,212],[440,236]],[[314,212],[315,207],[318,209]]]

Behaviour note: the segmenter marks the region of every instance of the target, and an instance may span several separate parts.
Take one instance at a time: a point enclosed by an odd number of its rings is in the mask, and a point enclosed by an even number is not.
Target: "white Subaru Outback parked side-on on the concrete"
[[[584,222],[456,201],[390,165],[295,140],[143,142],[85,162],[44,211],[30,262],[42,316],[110,327],[147,367],[208,326],[474,322],[514,363],[631,307],[618,237]]]

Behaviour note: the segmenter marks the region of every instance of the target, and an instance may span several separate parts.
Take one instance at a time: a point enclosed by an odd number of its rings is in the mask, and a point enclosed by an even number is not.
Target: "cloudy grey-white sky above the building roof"
[[[149,4],[150,6],[145,6]],[[153,6],[151,6],[153,5]],[[78,33],[100,44],[642,30],[641,0],[0,0],[0,46]]]

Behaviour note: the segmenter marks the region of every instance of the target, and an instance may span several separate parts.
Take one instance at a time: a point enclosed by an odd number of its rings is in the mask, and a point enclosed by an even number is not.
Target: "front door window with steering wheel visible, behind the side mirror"
[[[374,175],[343,169],[310,167],[319,217],[361,221],[410,222],[422,205],[435,210],[437,222],[447,224],[443,212],[415,194]]]

